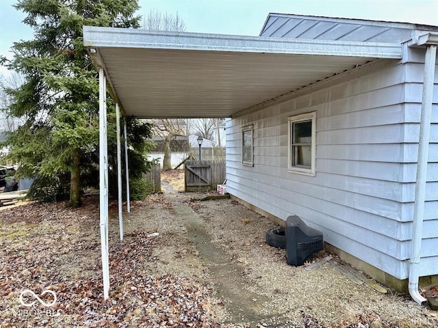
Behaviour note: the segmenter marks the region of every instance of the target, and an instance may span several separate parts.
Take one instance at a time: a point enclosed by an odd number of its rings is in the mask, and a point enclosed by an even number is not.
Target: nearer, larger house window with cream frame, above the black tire
[[[316,112],[289,117],[289,171],[315,176]]]

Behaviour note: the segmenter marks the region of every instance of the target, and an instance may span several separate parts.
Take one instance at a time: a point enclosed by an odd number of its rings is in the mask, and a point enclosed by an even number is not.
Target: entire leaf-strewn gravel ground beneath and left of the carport
[[[438,327],[437,312],[409,297],[350,281],[331,264],[342,263],[333,254],[314,271],[287,265],[284,250],[264,241],[272,221],[230,199],[192,200],[203,196],[133,202],[123,243],[112,203],[111,299],[103,303],[96,198],[79,210],[34,204],[4,211],[0,327]],[[205,247],[196,244],[201,234]],[[20,312],[21,289],[35,286],[56,290],[60,316]]]

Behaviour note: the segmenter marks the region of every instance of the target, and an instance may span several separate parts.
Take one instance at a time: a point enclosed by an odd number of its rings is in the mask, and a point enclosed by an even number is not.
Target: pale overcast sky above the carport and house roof
[[[44,0],[40,0],[44,1]],[[17,0],[0,0],[0,55],[12,57],[10,47],[31,40],[22,23],[25,15],[12,7]],[[139,0],[138,14],[150,10],[176,14],[186,31],[258,36],[270,12],[341,18],[361,18],[438,26],[438,0]],[[8,75],[0,66],[0,74]]]

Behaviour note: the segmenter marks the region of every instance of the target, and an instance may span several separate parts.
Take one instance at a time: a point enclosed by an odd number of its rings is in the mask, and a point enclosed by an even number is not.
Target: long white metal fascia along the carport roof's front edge
[[[136,48],[240,53],[282,53],[400,59],[398,43],[306,40],[260,36],[148,31],[116,27],[83,27],[83,44],[90,48]]]

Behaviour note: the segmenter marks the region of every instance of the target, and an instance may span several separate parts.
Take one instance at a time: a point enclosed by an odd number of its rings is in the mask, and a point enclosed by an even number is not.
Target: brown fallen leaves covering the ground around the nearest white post
[[[103,301],[96,197],[85,206],[33,204],[9,211],[0,230],[0,326],[218,327],[207,288],[188,277],[146,269],[157,236],[134,231],[123,243],[110,232],[110,300]],[[53,290],[50,308],[19,302],[23,290]],[[42,300],[49,303],[48,296]],[[30,303],[30,295],[23,297]]]

